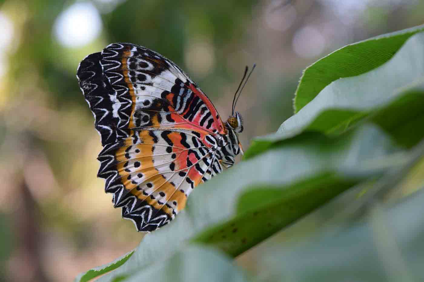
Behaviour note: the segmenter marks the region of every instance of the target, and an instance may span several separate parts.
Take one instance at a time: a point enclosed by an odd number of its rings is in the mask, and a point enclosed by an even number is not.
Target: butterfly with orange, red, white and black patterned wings
[[[98,177],[138,231],[168,224],[197,185],[243,154],[234,108],[247,70],[224,123],[179,66],[148,48],[114,43],[81,61],[77,78],[103,145]]]

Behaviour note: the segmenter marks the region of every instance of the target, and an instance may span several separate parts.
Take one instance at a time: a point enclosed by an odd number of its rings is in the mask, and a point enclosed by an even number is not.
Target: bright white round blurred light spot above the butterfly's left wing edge
[[[92,3],[75,3],[57,17],[54,35],[66,47],[79,47],[96,39],[101,29],[97,8]]]

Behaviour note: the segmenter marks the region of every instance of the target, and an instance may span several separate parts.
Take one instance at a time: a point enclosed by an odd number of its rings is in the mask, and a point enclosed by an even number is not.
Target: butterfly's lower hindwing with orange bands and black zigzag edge
[[[142,231],[152,231],[161,226],[152,223],[154,218],[167,216],[161,223],[172,220],[192,189],[220,171],[215,172],[218,162],[210,149],[187,131],[150,129],[134,135],[103,149],[99,177],[106,178],[106,192],[114,193],[114,205],[123,207],[123,217]],[[174,141],[172,147],[167,138]]]

